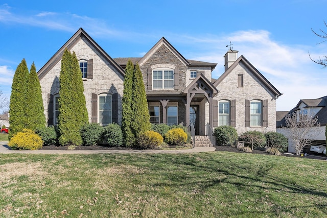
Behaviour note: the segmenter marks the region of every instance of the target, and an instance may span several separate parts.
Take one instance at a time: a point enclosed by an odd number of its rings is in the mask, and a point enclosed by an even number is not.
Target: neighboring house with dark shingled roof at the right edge
[[[277,111],[279,120],[276,119],[276,132],[282,133],[286,137],[288,137],[287,130],[283,127],[286,127],[285,117],[288,114],[309,114],[310,116],[317,116],[318,123],[320,123],[320,127],[312,128],[311,132],[314,132],[314,137],[309,138],[313,140],[313,144],[322,144],[325,143],[325,126],[327,124],[327,96],[321,97],[319,99],[302,99],[297,105],[285,114],[284,111]],[[282,117],[282,115],[284,116]],[[289,147],[288,152],[295,152],[293,148],[292,140],[289,139]]]

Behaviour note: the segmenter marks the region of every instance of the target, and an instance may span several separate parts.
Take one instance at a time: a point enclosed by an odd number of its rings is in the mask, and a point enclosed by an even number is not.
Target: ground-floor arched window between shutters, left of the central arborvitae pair
[[[112,123],[112,96],[111,94],[99,95],[99,123],[108,125]]]

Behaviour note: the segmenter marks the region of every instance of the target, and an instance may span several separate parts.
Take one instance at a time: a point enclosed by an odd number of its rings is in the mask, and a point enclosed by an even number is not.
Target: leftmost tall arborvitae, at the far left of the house
[[[29,69],[25,59],[22,59],[17,66],[11,85],[10,106],[9,106],[9,140],[11,137],[26,128],[26,99],[27,99],[27,81],[29,78]]]

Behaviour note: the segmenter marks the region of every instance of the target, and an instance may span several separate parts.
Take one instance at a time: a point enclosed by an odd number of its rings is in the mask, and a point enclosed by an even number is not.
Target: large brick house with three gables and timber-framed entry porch
[[[48,125],[58,120],[59,75],[64,49],[79,59],[89,122],[121,124],[125,67],[138,63],[145,84],[150,122],[194,124],[197,135],[208,127],[275,131],[275,100],[281,93],[237,51],[225,56],[225,72],[212,79],[216,63],[185,59],[164,37],[140,58],[112,59],[79,29],[38,71]],[[73,91],[73,90],[72,90]]]

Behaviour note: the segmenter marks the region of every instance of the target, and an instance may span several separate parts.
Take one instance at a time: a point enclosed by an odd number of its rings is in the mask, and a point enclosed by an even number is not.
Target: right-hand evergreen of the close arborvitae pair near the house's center
[[[142,132],[150,130],[150,114],[148,109],[147,95],[143,82],[142,72],[138,64],[134,67],[133,85],[132,85],[132,122],[131,128],[137,138]]]

